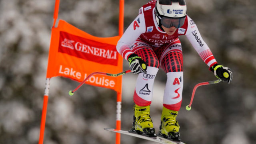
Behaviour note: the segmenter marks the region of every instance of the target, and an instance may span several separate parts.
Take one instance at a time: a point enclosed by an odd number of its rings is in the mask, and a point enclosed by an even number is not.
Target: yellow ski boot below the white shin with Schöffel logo
[[[134,105],[132,128],[129,132],[148,137],[156,137],[153,122],[150,117],[150,106]]]

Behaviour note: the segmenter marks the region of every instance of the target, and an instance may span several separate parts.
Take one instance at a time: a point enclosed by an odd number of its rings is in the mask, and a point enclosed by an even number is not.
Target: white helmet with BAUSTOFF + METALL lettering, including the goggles
[[[166,28],[172,26],[180,28],[187,14],[186,2],[185,0],[157,0],[155,14],[156,22],[161,29],[162,25]]]

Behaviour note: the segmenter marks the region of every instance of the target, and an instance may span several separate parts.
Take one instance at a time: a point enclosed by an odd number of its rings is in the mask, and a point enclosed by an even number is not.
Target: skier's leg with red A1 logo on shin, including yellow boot
[[[164,90],[164,107],[159,134],[178,141],[180,126],[176,120],[176,116],[180,110],[183,90],[183,56],[181,44],[175,43],[166,46],[160,63],[161,68],[167,74],[167,82]]]

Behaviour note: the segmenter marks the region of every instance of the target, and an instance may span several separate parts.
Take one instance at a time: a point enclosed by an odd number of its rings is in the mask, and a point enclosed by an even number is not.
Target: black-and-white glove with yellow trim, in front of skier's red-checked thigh
[[[134,74],[138,74],[141,72],[147,73],[146,62],[144,62],[144,60],[142,60],[142,58],[139,57],[137,54],[131,54],[128,57],[128,62],[129,62],[130,70],[132,71],[132,73]]]

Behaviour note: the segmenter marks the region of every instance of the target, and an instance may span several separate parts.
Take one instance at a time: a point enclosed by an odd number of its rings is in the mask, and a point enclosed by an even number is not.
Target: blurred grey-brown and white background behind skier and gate
[[[124,28],[148,0],[126,0]],[[45,86],[54,0],[0,0],[0,144],[37,144]],[[188,144],[255,144],[256,1],[186,0],[188,15],[219,64],[232,69],[231,84],[198,88],[191,111],[185,106],[195,84],[215,80],[186,37],[183,103],[178,120]],[[118,0],[60,0],[59,18],[98,37],[118,35]],[[124,70],[128,63],[124,61]],[[123,76],[122,129],[131,128],[136,76]],[[154,85],[151,115],[158,130],[166,74]],[[45,144],[114,144],[116,94],[78,82],[52,78]],[[153,144],[121,136],[122,144]]]

